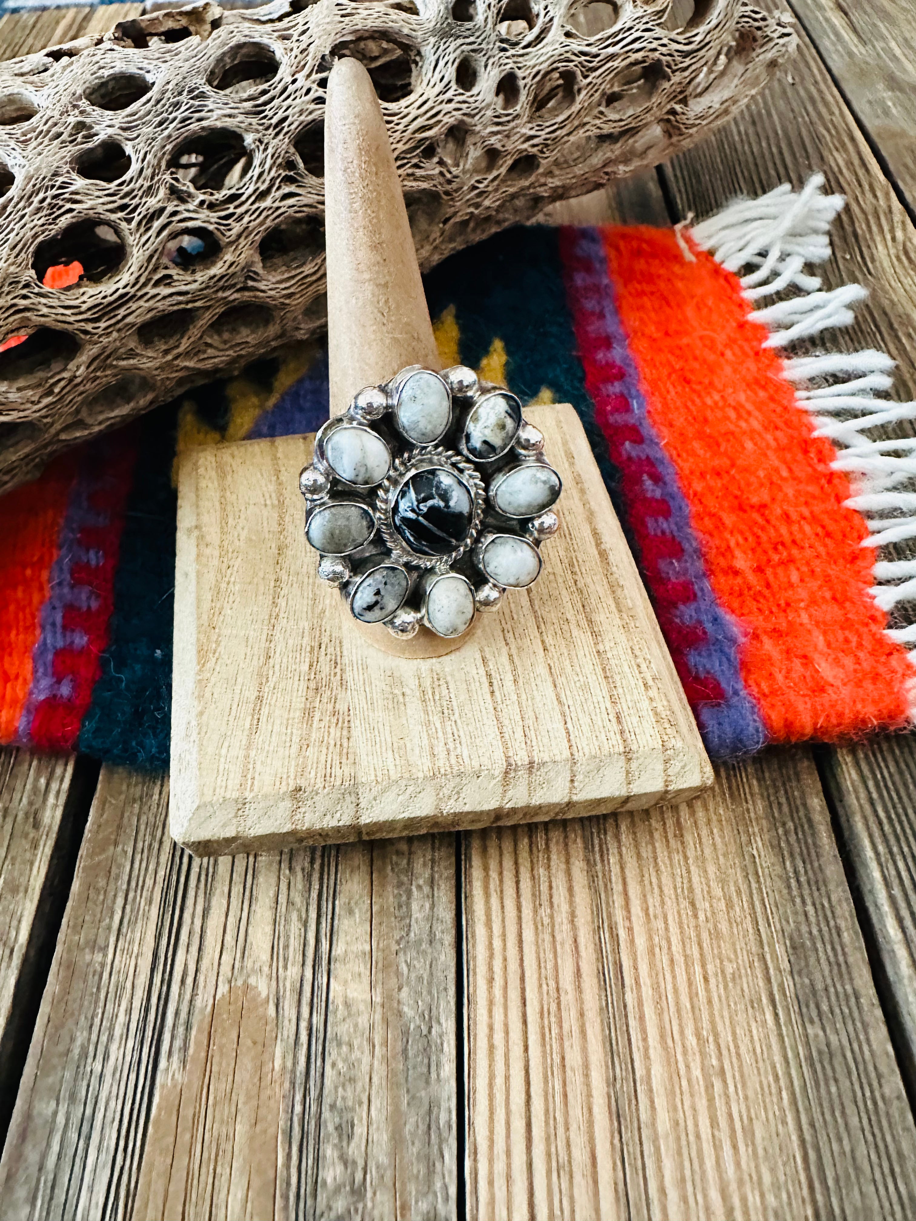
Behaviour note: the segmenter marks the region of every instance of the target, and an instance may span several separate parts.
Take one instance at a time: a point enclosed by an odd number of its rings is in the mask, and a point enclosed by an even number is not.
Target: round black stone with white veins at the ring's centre
[[[447,556],[464,546],[474,520],[474,498],[445,466],[419,470],[404,480],[391,521],[419,556]]]

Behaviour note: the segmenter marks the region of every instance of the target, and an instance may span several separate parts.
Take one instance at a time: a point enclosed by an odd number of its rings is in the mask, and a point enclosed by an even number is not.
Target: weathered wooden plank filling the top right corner
[[[916,7],[789,2],[916,215]]]

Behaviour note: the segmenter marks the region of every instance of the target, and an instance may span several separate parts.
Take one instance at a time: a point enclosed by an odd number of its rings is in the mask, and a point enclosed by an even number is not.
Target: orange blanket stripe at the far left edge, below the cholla
[[[0,742],[15,737],[32,685],[32,650],[75,476],[65,457],[0,499]]]

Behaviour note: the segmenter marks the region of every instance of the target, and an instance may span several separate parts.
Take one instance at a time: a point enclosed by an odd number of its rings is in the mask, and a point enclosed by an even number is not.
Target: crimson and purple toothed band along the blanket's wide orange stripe
[[[639,371],[617,313],[601,234],[584,228],[567,230],[563,236],[567,286],[596,421],[608,440],[612,460],[622,470],[633,532],[639,537],[642,526],[649,535],[644,538],[647,554],[639,557],[640,565],[656,596],[663,626],[666,620],[673,620],[684,635],[699,641],[679,645],[674,636],[682,634],[669,626],[673,652],[686,662],[697,687],[712,678],[723,696],[717,702],[691,700],[703,741],[717,758],[757,751],[766,742],[766,730],[741,680],[740,632],[716,600],[678,473],[650,424]],[[651,505],[658,502],[667,508],[655,515]],[[672,549],[679,556],[650,556],[651,536],[666,535],[677,540],[679,548]],[[656,574],[649,571],[652,564]],[[661,581],[653,576],[661,576]],[[662,606],[666,586],[672,597]]]

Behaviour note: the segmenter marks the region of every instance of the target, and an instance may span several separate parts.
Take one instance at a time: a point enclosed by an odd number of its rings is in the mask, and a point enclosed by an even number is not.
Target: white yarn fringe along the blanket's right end
[[[849,326],[851,306],[867,297],[861,284],[824,292],[821,280],[807,274],[831,258],[831,225],[843,209],[843,195],[824,195],[823,175],[816,173],[800,192],[784,184],[760,199],[730,204],[692,230],[703,250],[741,277],[749,300],[778,293],[791,295],[750,315],[771,331],[771,348],[788,348],[831,326]],[[793,292],[795,291],[795,292]],[[916,476],[916,438],[872,441],[865,433],[888,424],[916,419],[916,403],[894,403],[894,361],[883,352],[823,353],[787,357],[785,376],[796,387],[800,407],[811,413],[816,435],[841,447],[833,463],[854,480],[846,504],[862,514],[871,537],[862,546],[879,548],[916,538],[916,492],[905,486]],[[885,613],[916,602],[916,559],[878,560],[872,595]],[[888,629],[888,636],[916,646],[916,623]],[[916,657],[916,654],[914,654]]]

